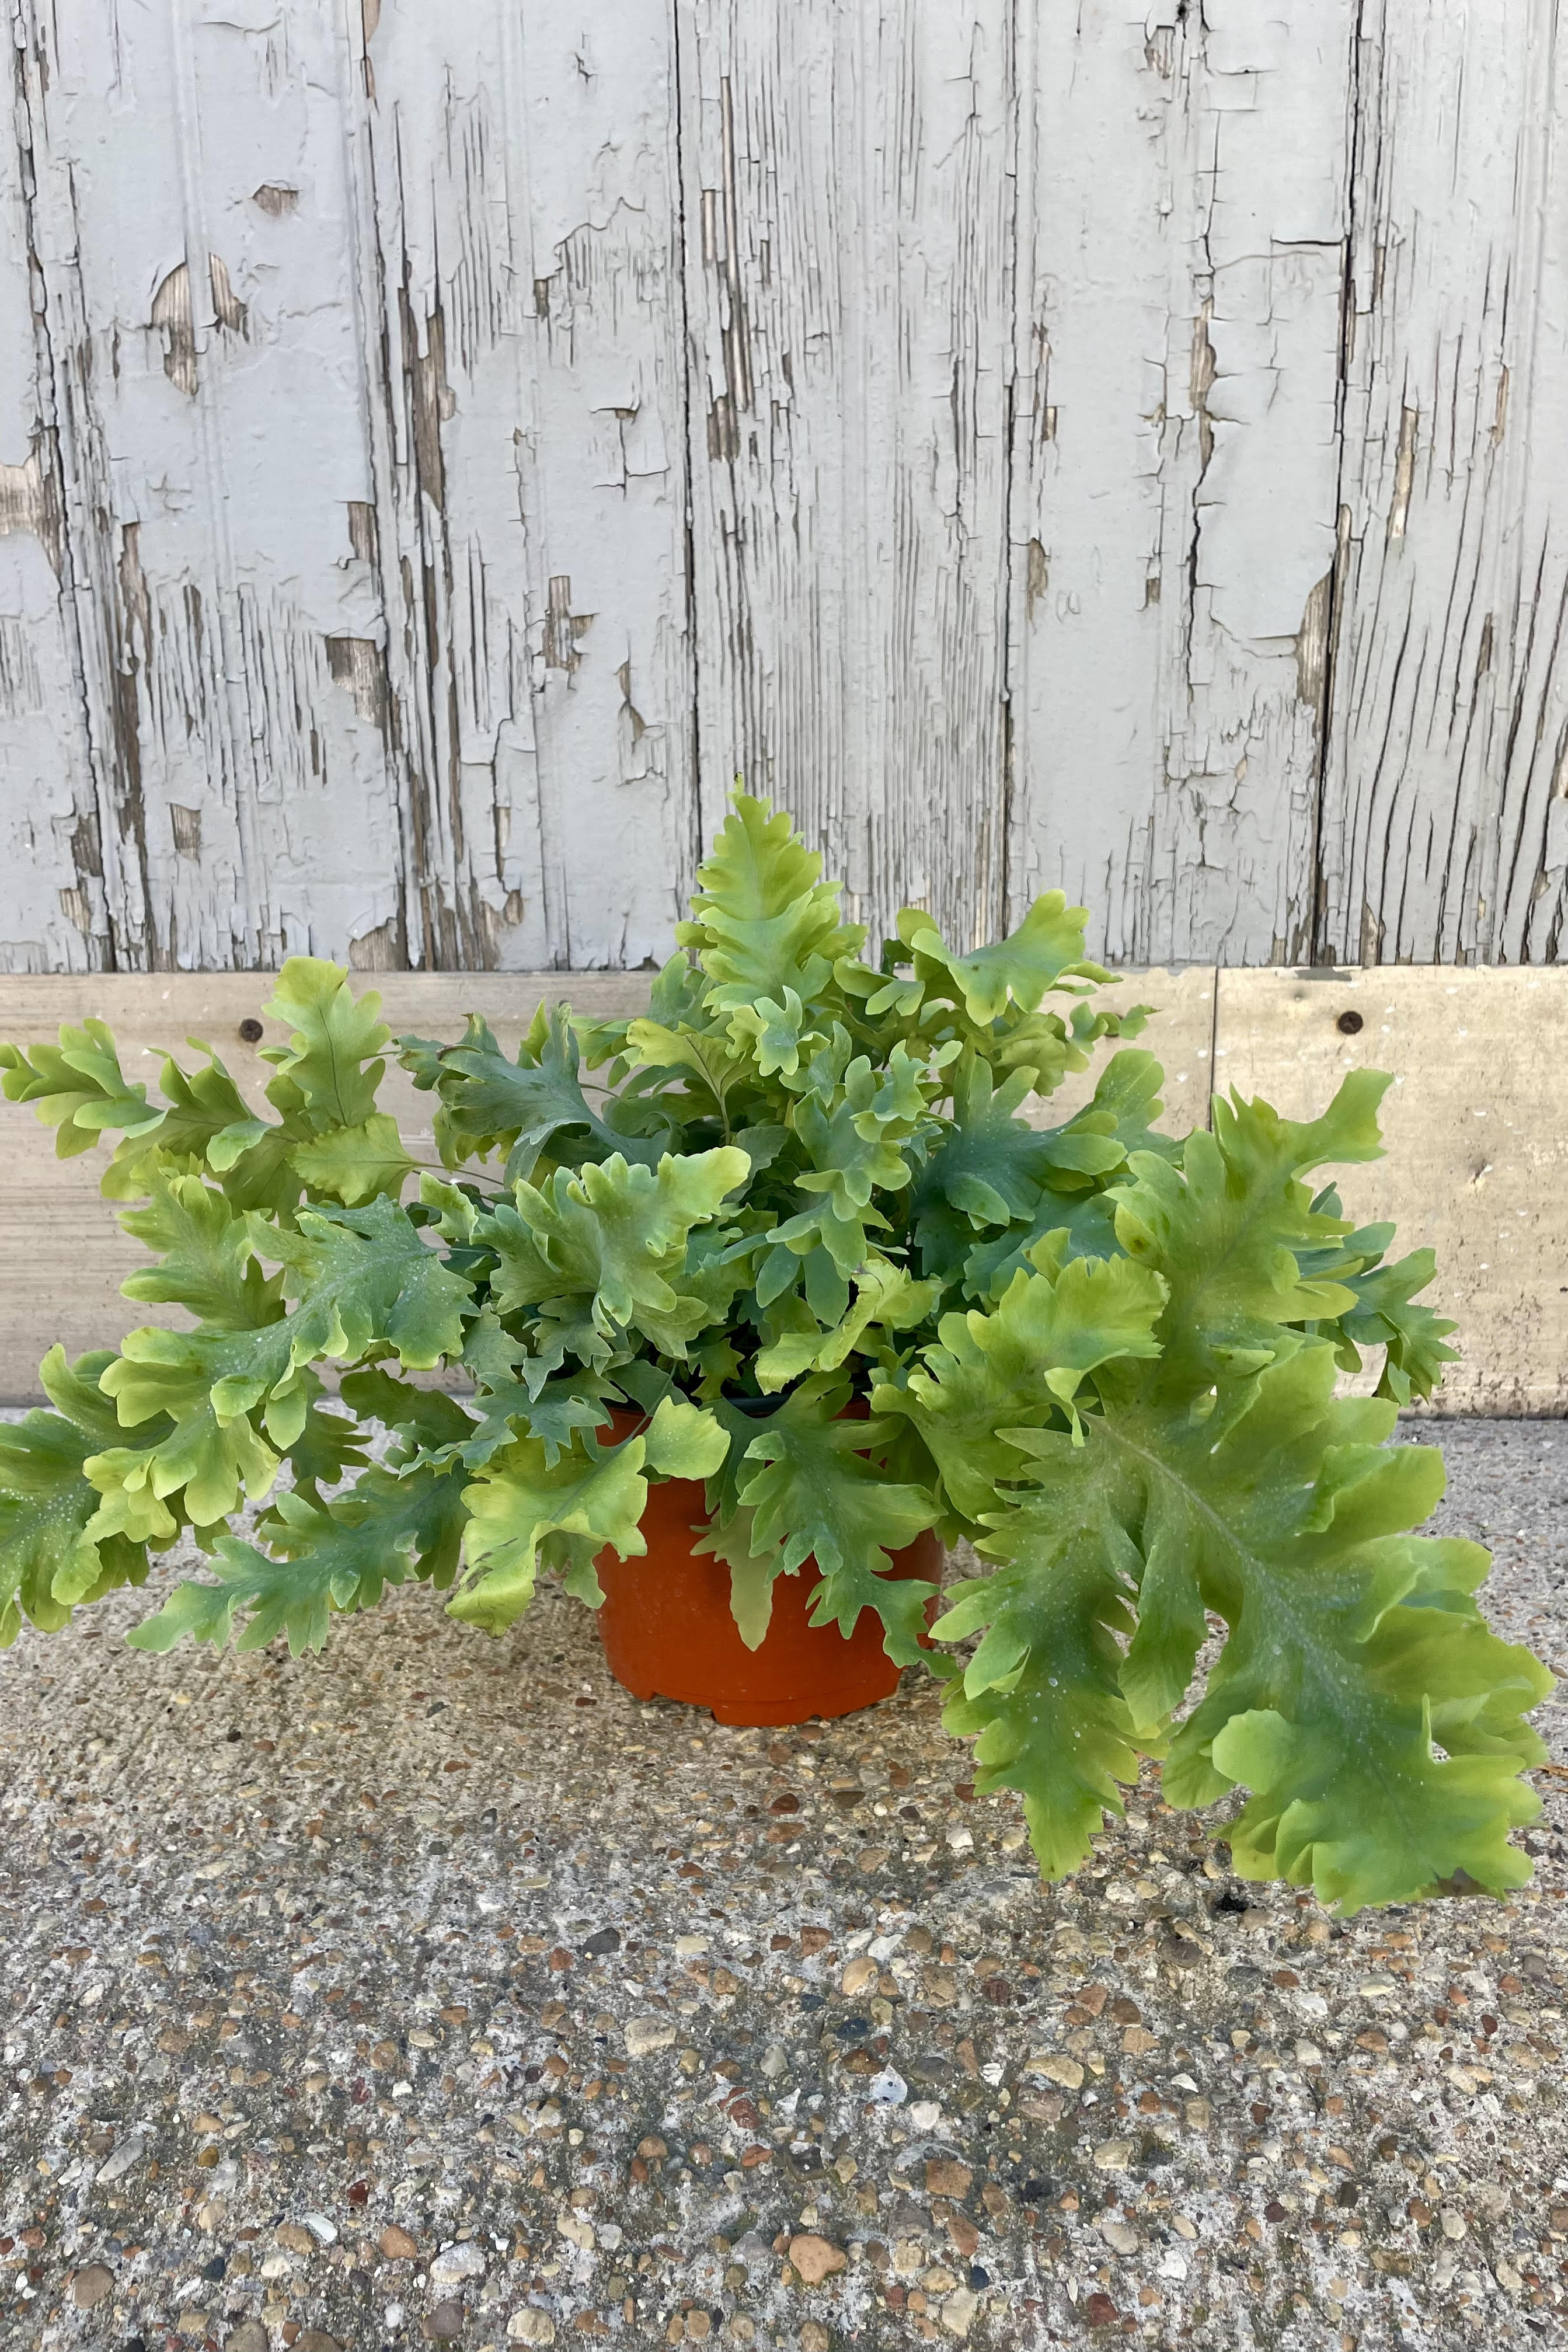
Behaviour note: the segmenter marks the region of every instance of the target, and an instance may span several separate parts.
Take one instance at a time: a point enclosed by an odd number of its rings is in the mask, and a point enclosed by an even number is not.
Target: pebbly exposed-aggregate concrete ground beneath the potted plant
[[[1408,1435],[1556,1663],[1568,1425]],[[724,1731],[555,1595],[146,1609],[0,1658],[7,2352],[1568,2338],[1568,1766],[1533,1891],[1342,1924],[1154,1778],[1044,1889],[919,1677]]]

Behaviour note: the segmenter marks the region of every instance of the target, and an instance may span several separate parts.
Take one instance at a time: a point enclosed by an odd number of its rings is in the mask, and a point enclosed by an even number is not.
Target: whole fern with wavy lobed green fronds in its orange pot
[[[1048,1875],[1161,1757],[1173,1804],[1246,1790],[1244,1875],[1345,1910],[1521,1884],[1549,1677],[1486,1628],[1486,1552],[1410,1534],[1436,1449],[1387,1442],[1450,1357],[1432,1254],[1389,1263],[1392,1228],[1307,1183],[1378,1155],[1387,1080],[1307,1124],[1215,1101],[1178,1141],[1124,1047],[1027,1124],[1143,1018],[1095,1009],[1084,922],[1051,891],[961,955],[905,910],[865,962],[820,861],[738,795],[646,1016],[541,1009],[517,1056],[477,1016],[397,1042],[440,1169],[376,1108],[378,1000],[327,962],[277,981],[270,1117],[207,1047],[160,1103],[96,1021],[0,1047],[61,1155],[118,1134],[103,1192],[153,1251],[125,1289],[190,1315],[52,1350],[54,1411],[0,1430],[0,1639],[186,1531],[207,1571],[141,1649],[315,1649],[409,1578],[498,1635],[555,1576],[632,1689],[731,1719],[924,1661]],[[1368,1348],[1378,1397],[1338,1397]],[[411,1378],[437,1367],[458,1395]],[[961,1538],[980,1573],[929,1628]]]

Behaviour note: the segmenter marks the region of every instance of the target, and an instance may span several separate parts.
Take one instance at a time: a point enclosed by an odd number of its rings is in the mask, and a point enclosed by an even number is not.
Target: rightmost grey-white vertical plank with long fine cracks
[[[1566,122],[1556,0],[1368,5],[1324,953],[1561,955]]]

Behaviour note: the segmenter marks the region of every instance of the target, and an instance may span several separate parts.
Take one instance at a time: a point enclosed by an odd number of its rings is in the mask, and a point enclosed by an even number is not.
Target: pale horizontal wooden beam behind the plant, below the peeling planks
[[[456,1037],[465,1014],[482,1011],[515,1044],[543,1000],[637,1011],[649,981],[646,971],[383,974],[378,988],[397,1033]],[[1441,1409],[1568,1411],[1568,969],[1201,964],[1117,981],[1117,1002],[1157,1007],[1145,1042],[1166,1065],[1171,1131],[1206,1120],[1213,1084],[1307,1117],[1345,1070],[1392,1070],[1389,1155],[1347,1169],[1342,1195],[1361,1223],[1394,1218],[1401,1251],[1436,1251],[1427,1296],[1458,1319],[1462,1348]],[[266,974],[0,978],[0,1037],[52,1040],[61,1021],[101,1014],[127,1073],[155,1084],[160,1051],[195,1035],[261,1101],[259,1047],[282,1037],[266,1018],[268,995]],[[240,1025],[252,1018],[263,1035],[247,1042]],[[1084,1091],[1074,1082],[1048,1117]],[[411,1150],[435,1160],[430,1096],[393,1068],[383,1103]],[[35,1364],[56,1338],[78,1355],[115,1345],[134,1324],[181,1319],[120,1298],[141,1254],[99,1197],[99,1152],[56,1160],[54,1136],[26,1110],[0,1110],[0,1399],[38,1397]]]

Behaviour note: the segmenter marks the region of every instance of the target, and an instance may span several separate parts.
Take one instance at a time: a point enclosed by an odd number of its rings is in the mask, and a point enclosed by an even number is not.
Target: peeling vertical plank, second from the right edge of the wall
[[[1312,936],[1354,7],[1020,31],[1011,920],[1112,962]]]

